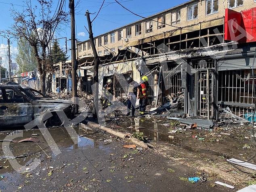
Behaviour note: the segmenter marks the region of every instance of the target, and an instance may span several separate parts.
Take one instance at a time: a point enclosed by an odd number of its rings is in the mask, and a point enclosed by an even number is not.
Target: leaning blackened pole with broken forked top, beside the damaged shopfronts
[[[94,105],[92,109],[92,116],[94,118],[97,118],[97,111],[99,110],[99,56],[94,44],[94,38],[93,38],[93,33],[92,33],[92,22],[90,19],[90,13],[88,10],[86,10],[86,17],[87,17],[87,22],[88,22],[88,29],[89,29],[89,38],[92,46],[92,51],[94,55],[94,72],[93,72],[93,84],[94,84],[94,90],[93,90],[93,98],[94,98]]]

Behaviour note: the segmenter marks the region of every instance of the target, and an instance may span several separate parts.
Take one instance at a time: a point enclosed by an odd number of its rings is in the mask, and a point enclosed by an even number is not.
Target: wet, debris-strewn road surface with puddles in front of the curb
[[[2,142],[1,191],[235,191],[213,187],[222,181],[217,175],[199,173],[150,149],[124,148],[130,144],[126,140],[90,127],[5,131],[0,140],[32,136],[38,142]],[[196,176],[208,181],[186,181]]]

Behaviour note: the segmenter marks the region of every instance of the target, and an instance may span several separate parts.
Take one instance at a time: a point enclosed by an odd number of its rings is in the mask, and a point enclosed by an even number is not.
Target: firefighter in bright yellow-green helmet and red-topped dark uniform
[[[139,99],[140,115],[145,115],[147,105],[147,84],[149,79],[146,76],[141,78],[141,83],[138,85],[137,99]]]

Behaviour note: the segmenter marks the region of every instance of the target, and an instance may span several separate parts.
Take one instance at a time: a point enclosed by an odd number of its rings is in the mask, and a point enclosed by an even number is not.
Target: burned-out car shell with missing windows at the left
[[[61,125],[58,113],[66,115],[68,119],[74,117],[76,105],[73,102],[43,96],[36,97],[31,90],[19,85],[0,85],[0,127],[27,123],[30,128],[42,123],[46,127],[58,126]]]

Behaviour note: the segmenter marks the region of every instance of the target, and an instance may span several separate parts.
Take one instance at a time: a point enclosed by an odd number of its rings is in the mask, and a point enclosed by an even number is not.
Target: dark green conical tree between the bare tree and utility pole
[[[53,43],[51,48],[51,55],[50,60],[53,64],[67,61],[68,56],[66,56],[66,53],[63,52],[63,50],[60,48],[59,43],[57,40]]]

